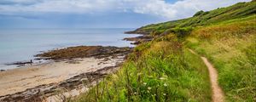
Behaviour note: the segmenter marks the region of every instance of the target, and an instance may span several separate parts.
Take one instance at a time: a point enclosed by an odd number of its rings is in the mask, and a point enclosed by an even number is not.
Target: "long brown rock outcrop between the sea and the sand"
[[[114,54],[128,54],[132,48],[102,47],[102,46],[78,46],[52,50],[43,54],[37,54],[40,59],[74,59],[85,57],[103,58]]]

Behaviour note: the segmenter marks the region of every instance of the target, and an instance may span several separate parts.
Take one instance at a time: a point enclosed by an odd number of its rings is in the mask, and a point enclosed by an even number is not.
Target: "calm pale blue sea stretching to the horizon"
[[[79,45],[131,47],[124,34],[132,29],[0,29],[0,70],[12,69],[5,64],[34,59],[33,55],[53,48]]]

